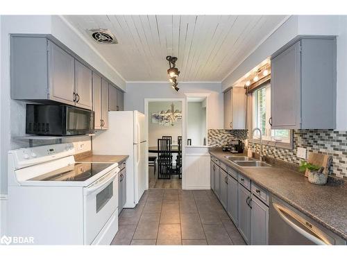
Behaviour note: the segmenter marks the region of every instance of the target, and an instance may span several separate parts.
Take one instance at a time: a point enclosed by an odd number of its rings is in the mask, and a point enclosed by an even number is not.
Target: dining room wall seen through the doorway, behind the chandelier
[[[182,102],[175,101],[160,101],[149,103],[149,146],[157,146],[157,140],[162,138],[163,135],[171,135],[173,144],[177,144],[178,135],[182,136],[182,120],[179,120],[175,125],[159,125],[158,123],[152,123],[151,114],[160,112],[162,110],[167,111],[171,108],[171,103],[174,103],[175,110],[182,111]]]

